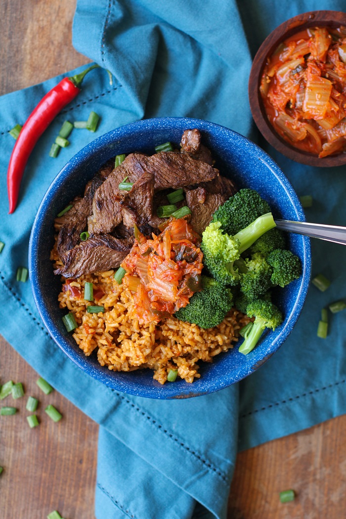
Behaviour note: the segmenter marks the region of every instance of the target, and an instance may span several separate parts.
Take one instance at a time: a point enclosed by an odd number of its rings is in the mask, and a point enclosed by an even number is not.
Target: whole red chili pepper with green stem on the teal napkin
[[[9,213],[16,209],[20,183],[34,146],[54,117],[70,103],[80,92],[80,86],[85,75],[99,65],[91,65],[88,69],[72,77],[64,77],[41,99],[36,108],[27,118],[20,131],[9,161],[7,170],[7,192]]]

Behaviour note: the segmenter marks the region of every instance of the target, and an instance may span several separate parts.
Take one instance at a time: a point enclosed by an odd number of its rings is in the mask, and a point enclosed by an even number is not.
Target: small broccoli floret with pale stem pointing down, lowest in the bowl
[[[279,308],[270,301],[255,299],[247,305],[246,313],[249,317],[255,317],[251,331],[246,334],[239,351],[244,355],[250,353],[259,341],[260,336],[266,328],[275,330],[282,323],[282,313]]]

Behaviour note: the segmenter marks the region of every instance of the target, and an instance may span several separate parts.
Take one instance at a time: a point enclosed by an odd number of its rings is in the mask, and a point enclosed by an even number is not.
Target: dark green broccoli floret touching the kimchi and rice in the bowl
[[[232,294],[224,284],[202,276],[203,289],[195,292],[185,308],[179,308],[175,317],[181,321],[196,323],[201,328],[212,328],[222,322],[232,308]]]

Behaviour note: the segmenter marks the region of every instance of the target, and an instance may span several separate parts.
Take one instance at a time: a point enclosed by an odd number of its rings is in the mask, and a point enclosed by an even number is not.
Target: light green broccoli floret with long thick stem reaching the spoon
[[[275,222],[271,213],[258,217],[234,236],[223,233],[220,222],[212,222],[202,235],[203,265],[221,283],[239,283],[242,273],[246,271],[241,253],[273,227]]]

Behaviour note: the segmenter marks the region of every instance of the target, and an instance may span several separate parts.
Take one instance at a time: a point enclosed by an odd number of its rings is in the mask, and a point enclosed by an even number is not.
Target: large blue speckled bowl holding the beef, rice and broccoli
[[[193,384],[184,380],[161,386],[151,370],[131,373],[109,371],[101,367],[95,355],[85,357],[72,334],[67,333],[61,317],[58,293],[61,282],[53,275],[49,253],[53,246],[53,221],[56,214],[76,195],[109,158],[134,151],[154,152],[154,146],[172,141],[178,144],[187,128],[199,128],[203,143],[216,159],[216,166],[230,176],[238,187],[256,189],[270,204],[274,216],[286,220],[304,220],[298,197],[278,165],[258,146],[239,133],[198,119],[147,119],[110,131],[81,149],[60,171],[40,204],[32,228],[29,268],[32,289],[40,316],[49,333],[81,370],[106,386],[141,397],[171,399],[197,397],[225,388],[250,375],[264,364],[282,345],[295,325],[305,301],[310,280],[310,242],[306,237],[289,235],[290,249],[300,257],[303,273],[300,279],[281,290],[276,299],[284,314],[284,322],[267,332],[247,356],[238,348],[215,357],[212,364],[200,362],[201,378]]]

